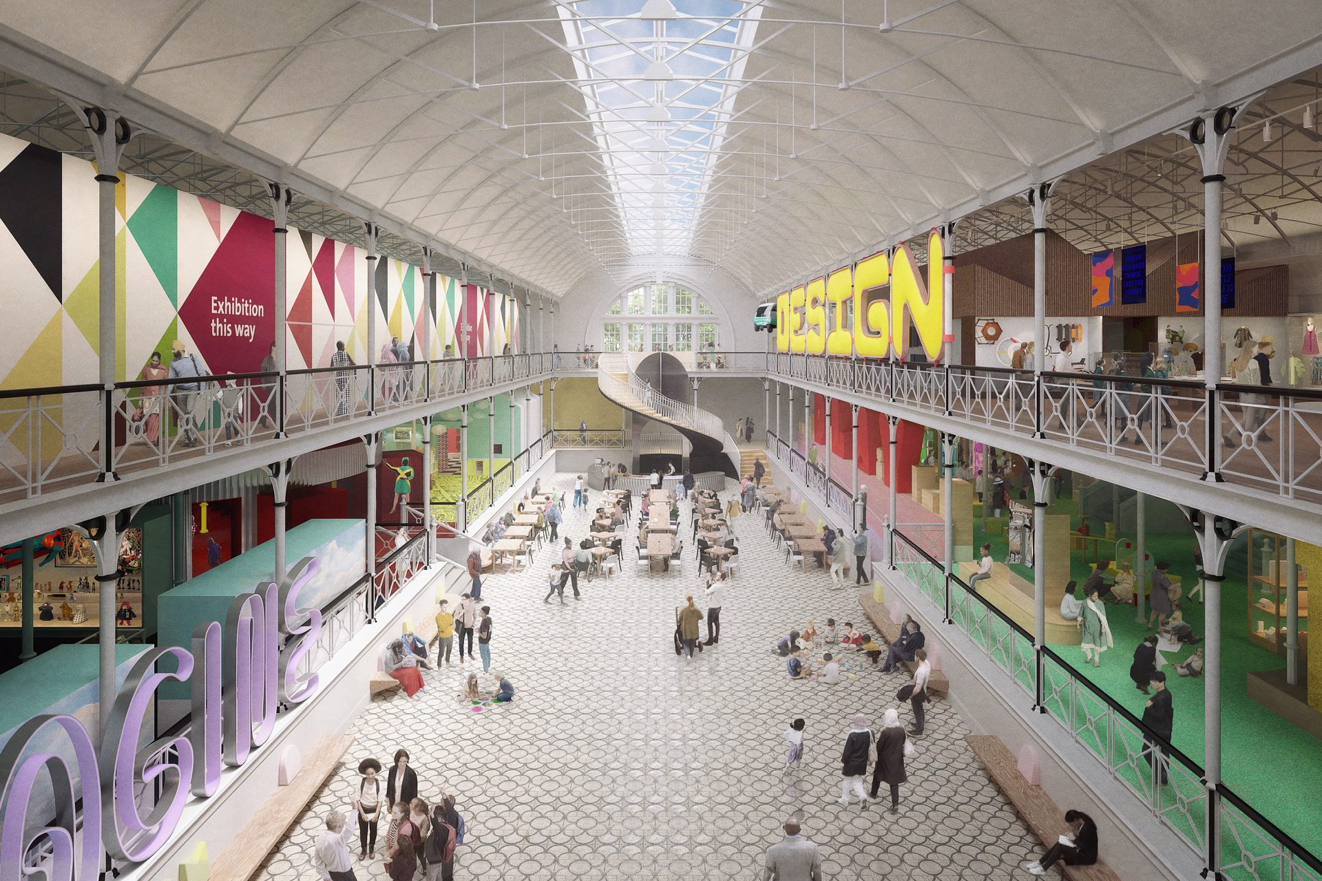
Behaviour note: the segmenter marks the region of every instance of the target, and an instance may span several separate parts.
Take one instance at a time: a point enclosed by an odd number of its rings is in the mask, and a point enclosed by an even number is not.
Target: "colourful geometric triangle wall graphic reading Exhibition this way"
[[[97,382],[94,174],[82,159],[0,135],[0,310],[15,318],[0,388]],[[259,370],[275,334],[271,221],[124,174],[116,207],[116,378],[136,379],[153,351],[168,365],[175,339],[213,372]],[[329,366],[338,339],[366,363],[366,254],[303,230],[284,239],[287,366]],[[459,283],[436,277],[436,329],[422,353],[422,268],[382,258],[375,271],[377,358],[391,337],[414,358],[439,358],[455,342]],[[500,354],[506,342],[520,351],[510,297],[469,285],[467,300],[471,354]]]

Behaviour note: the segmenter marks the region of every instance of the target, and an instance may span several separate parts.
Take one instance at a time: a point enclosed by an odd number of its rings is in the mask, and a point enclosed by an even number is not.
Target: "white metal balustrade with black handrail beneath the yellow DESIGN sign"
[[[1322,390],[768,353],[765,372],[1322,503]]]

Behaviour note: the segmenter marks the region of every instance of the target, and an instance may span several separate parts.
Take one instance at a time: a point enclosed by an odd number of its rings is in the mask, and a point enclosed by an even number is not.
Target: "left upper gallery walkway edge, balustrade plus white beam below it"
[[[509,392],[549,379],[551,363],[534,353],[0,391],[0,543]]]

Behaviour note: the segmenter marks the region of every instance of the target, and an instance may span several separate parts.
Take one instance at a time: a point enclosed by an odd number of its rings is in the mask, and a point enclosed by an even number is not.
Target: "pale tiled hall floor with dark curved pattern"
[[[561,474],[557,485],[571,479]],[[587,514],[570,510],[561,534],[578,540],[586,527]],[[348,804],[360,758],[386,765],[398,748],[412,754],[422,798],[456,796],[468,824],[460,878],[760,878],[767,847],[796,812],[822,847],[828,878],[1029,877],[1019,864],[1040,845],[964,745],[968,732],[945,701],[929,705],[899,815],[837,804],[849,717],[862,711],[879,725],[904,679],[869,670],[838,686],[789,680],[775,639],[808,618],[858,622],[855,592],[828,590],[812,568],[791,572],[756,516],[734,527],[744,568],[726,590],[720,645],[691,667],[672,642],[673,609],[699,586],[687,535],[683,572],[649,580],[635,573],[629,530],[624,571],[580,581],[582,601],[564,606],[542,602],[550,548],[531,571],[490,577],[483,598],[493,668],[514,683],[517,703],[460,707],[472,667],[459,663],[424,672],[415,700],[374,701],[352,728],[350,756],[256,877],[315,878],[323,815]],[[804,769],[785,774],[781,732],[797,716],[808,720]],[[912,721],[907,705],[900,719]],[[385,877],[379,853],[354,870]]]

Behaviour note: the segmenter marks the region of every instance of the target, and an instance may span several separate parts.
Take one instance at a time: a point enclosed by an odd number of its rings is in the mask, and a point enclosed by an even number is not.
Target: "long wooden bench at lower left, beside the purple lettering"
[[[278,786],[212,861],[213,881],[247,881],[284,837],[353,744],[353,734],[319,737],[288,786]],[[353,818],[345,818],[353,823]]]

